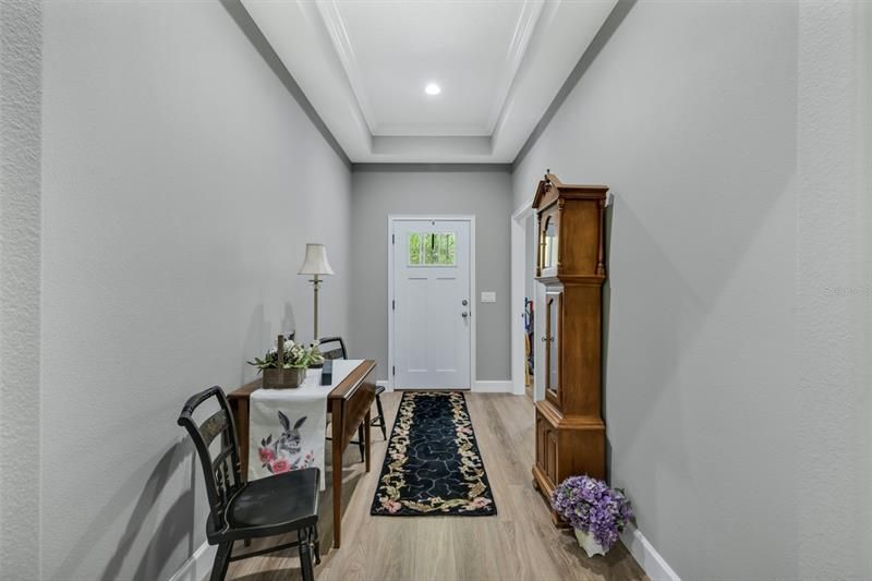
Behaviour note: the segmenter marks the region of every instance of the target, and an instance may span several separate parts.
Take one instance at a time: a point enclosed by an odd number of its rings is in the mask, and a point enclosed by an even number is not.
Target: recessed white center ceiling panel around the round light
[[[356,75],[352,87],[373,135],[491,135],[529,37],[513,43],[516,31],[532,28],[542,8],[446,1],[318,5],[335,29],[346,32],[343,64],[350,78]],[[431,81],[444,92],[425,95]]]

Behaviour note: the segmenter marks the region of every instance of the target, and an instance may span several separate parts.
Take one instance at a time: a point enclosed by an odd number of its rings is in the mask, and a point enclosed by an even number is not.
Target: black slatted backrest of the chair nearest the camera
[[[193,417],[194,411],[211,398],[218,401],[219,410],[197,425]],[[194,440],[206,479],[206,493],[209,496],[215,530],[220,531],[226,525],[225,509],[242,487],[237,427],[223,390],[215,386],[191,396],[179,414],[179,425],[187,429]],[[221,436],[221,449],[213,457],[209,446],[218,436]]]

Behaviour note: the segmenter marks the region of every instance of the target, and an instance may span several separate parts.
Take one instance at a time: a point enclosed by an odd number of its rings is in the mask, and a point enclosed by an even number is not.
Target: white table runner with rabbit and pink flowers
[[[255,389],[249,399],[249,480],[308,467],[320,469],[326,487],[324,440],[327,396],[363,360],[335,360],[332,383],[320,385],[322,370],[308,370],[295,389]]]

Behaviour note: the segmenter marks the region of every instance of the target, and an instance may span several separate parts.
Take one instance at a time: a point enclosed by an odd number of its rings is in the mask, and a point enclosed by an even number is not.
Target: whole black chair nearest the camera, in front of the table
[[[197,425],[194,411],[216,399],[219,410]],[[192,396],[179,414],[179,425],[187,429],[203,468],[209,497],[206,538],[218,545],[211,581],[221,581],[230,561],[298,547],[303,581],[314,581],[312,549],[320,562],[318,547],[319,470],[306,468],[244,483],[240,469],[239,441],[233,415],[220,387]],[[220,451],[213,457],[209,447],[220,436]],[[233,555],[234,541],[247,541],[296,532],[296,541],[262,550]]]

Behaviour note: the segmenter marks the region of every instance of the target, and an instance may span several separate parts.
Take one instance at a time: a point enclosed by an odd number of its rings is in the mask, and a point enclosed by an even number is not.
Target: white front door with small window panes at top
[[[470,221],[391,220],[393,386],[469,389]]]

